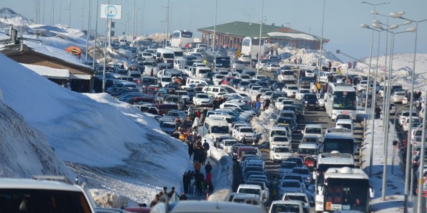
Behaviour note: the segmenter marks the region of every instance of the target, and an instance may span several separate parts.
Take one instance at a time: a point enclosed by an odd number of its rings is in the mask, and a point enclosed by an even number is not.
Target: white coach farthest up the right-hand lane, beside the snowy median
[[[326,113],[332,120],[340,114],[350,115],[356,120],[356,90],[351,84],[329,83],[324,102]]]

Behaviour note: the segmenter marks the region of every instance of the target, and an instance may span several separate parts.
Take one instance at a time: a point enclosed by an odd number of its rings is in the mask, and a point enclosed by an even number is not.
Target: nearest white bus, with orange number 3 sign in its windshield
[[[363,169],[329,168],[318,194],[320,196],[316,196],[316,211],[352,210],[369,213],[369,200],[374,197],[374,189]],[[318,210],[318,206],[322,207],[321,210]]]

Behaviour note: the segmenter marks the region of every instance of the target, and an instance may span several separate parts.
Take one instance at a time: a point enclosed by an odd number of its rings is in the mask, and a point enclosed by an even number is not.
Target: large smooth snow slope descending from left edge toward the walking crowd
[[[106,93],[69,91],[3,55],[0,61],[4,103],[90,186],[147,203],[160,187],[180,191],[187,146],[153,119]]]

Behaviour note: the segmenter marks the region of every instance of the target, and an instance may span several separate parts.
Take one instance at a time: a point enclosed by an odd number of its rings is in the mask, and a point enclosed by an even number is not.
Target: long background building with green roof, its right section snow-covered
[[[213,26],[197,29],[202,32],[202,42],[212,45]],[[259,37],[260,24],[233,21],[230,23],[216,25],[215,37],[217,46],[228,46],[241,49],[242,40],[245,37]],[[278,43],[280,46],[292,46],[295,48],[320,49],[321,38],[309,33],[294,30],[288,27],[263,24],[261,37],[266,43]],[[323,43],[328,43],[323,39]]]

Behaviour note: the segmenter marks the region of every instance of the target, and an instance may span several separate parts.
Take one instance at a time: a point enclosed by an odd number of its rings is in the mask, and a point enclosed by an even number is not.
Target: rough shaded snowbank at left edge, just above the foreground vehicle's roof
[[[1,95],[0,95],[1,96]],[[0,98],[1,99],[1,98]],[[46,137],[0,100],[0,177],[73,174],[54,153]]]

